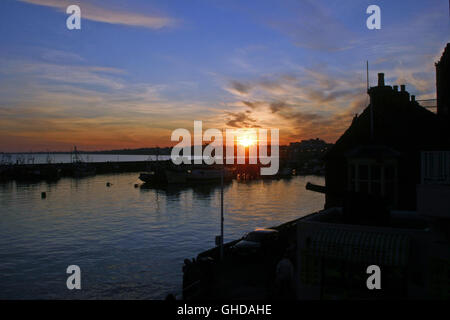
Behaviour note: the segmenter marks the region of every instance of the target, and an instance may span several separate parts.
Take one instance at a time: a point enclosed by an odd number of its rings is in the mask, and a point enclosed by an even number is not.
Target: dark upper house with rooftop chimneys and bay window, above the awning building
[[[369,106],[326,155],[326,208],[348,199],[367,206],[415,210],[421,151],[450,150],[447,118],[450,92],[449,45],[436,64],[438,113],[420,106],[405,85],[388,86],[384,74],[368,90]]]

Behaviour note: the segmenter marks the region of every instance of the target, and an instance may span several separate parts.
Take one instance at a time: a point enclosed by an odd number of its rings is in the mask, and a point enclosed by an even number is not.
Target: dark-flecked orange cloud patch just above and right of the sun
[[[357,71],[298,67],[297,73],[231,80],[235,97],[225,112],[230,127],[280,128],[282,142],[321,137],[336,140],[367,104]]]

